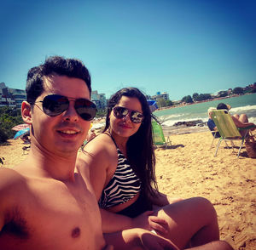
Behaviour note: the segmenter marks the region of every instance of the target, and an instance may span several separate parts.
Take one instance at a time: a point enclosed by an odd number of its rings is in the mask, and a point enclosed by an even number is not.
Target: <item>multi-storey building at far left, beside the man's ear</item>
[[[0,107],[8,106],[12,109],[20,109],[21,103],[26,99],[25,90],[8,88],[4,82],[0,83]]]

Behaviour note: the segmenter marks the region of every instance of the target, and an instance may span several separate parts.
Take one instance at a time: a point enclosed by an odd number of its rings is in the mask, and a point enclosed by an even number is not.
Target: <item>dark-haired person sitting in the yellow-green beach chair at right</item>
[[[231,109],[231,106],[226,105],[224,103],[219,103],[217,106],[217,110],[230,111],[230,109]],[[253,122],[248,121],[248,117],[246,114],[241,114],[241,115],[235,114],[231,117],[232,117],[233,121],[235,122],[237,128],[246,128],[248,126],[254,126],[253,128],[250,129],[252,131],[256,128],[256,125]],[[241,136],[245,136],[246,133],[247,133],[246,130],[240,130]]]

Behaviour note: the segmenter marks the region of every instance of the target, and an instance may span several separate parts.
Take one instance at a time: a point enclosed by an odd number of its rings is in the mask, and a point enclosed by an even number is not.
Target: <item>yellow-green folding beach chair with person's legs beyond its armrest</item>
[[[232,141],[233,151],[234,151],[233,140],[241,140],[241,144],[239,146],[239,150],[237,153],[237,158],[238,158],[241,151],[241,146],[243,145],[247,137],[248,131],[250,128],[253,128],[253,126],[248,126],[246,128],[237,128],[235,122],[230,116],[230,113],[226,110],[212,111],[212,120],[215,122],[216,127],[218,128],[218,132],[220,134],[220,138],[218,139],[218,145],[217,145],[214,156],[217,156],[218,147],[223,140]],[[246,134],[244,136],[241,136],[241,134],[239,133],[239,131],[241,130],[246,130]]]

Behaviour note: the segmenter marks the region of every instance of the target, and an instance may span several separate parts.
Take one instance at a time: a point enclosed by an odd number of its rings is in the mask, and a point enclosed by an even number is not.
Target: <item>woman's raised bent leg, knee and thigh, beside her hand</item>
[[[166,219],[169,233],[164,236],[183,248],[188,242],[191,247],[218,241],[218,219],[212,203],[205,198],[195,197],[175,202],[155,211]]]

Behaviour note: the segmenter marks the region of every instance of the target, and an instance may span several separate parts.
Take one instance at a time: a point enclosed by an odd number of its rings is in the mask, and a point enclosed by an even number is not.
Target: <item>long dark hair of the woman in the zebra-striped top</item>
[[[151,111],[145,95],[137,88],[122,88],[113,94],[109,99],[108,113],[104,132],[110,126],[110,112],[115,105],[119,104],[122,96],[137,98],[143,109],[143,122],[136,134],[131,135],[127,141],[126,151],[127,159],[131,163],[131,168],[137,173],[142,182],[142,191],[144,194],[155,196],[154,190],[158,191],[155,178],[155,156],[153,149]]]

